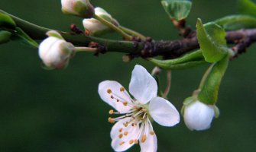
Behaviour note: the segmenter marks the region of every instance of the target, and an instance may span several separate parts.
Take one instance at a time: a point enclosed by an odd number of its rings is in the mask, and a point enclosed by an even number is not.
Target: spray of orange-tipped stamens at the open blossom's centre
[[[124,138],[127,135],[134,135],[132,140],[128,141],[129,144],[138,144],[138,141],[144,143],[147,140],[149,135],[154,135],[154,131],[152,130],[152,125],[150,121],[149,111],[147,104],[143,105],[138,100],[131,100],[131,102],[127,102],[123,97],[122,93],[127,93],[124,87],[120,88],[121,94],[113,93],[111,89],[107,90],[109,93],[109,97],[112,100],[115,100],[117,103],[122,103],[123,106],[128,106],[130,110],[122,116],[118,116],[115,118],[109,117],[110,123],[115,123],[118,121],[123,121],[122,128],[119,128],[118,138],[125,140]],[[115,112],[113,109],[109,110],[110,115],[121,115],[120,112]],[[125,121],[124,121],[125,120]],[[136,130],[134,134],[134,129]],[[120,146],[125,144],[127,141],[120,142]]]

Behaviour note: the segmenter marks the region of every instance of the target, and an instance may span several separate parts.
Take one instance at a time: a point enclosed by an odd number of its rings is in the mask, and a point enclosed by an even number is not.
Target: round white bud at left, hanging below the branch
[[[39,56],[47,68],[65,68],[75,47],[63,40],[56,31],[49,31],[49,36],[39,46]]]

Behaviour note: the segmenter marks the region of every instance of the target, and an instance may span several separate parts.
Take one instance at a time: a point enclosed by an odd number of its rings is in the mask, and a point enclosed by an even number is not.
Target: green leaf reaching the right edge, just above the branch
[[[256,27],[256,18],[249,15],[230,15],[222,17],[219,20],[214,21],[215,24],[222,26],[225,30],[239,30],[243,28]]]

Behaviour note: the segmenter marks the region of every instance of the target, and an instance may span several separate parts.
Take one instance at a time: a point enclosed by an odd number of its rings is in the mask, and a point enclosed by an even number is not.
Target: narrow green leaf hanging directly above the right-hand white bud
[[[214,105],[218,100],[219,85],[228,67],[229,55],[225,55],[221,61],[214,63],[206,81],[199,92],[199,101]]]

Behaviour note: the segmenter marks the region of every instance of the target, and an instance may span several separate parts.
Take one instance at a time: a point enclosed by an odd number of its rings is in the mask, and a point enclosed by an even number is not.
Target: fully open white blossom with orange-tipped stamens
[[[169,101],[157,97],[157,82],[141,65],[132,71],[129,90],[135,99],[117,81],[99,84],[102,100],[117,110],[110,110],[109,114],[123,115],[109,118],[109,122],[116,122],[110,132],[112,148],[124,151],[139,143],[141,152],[155,152],[157,136],[151,121],[171,127],[180,122],[179,112]]]

